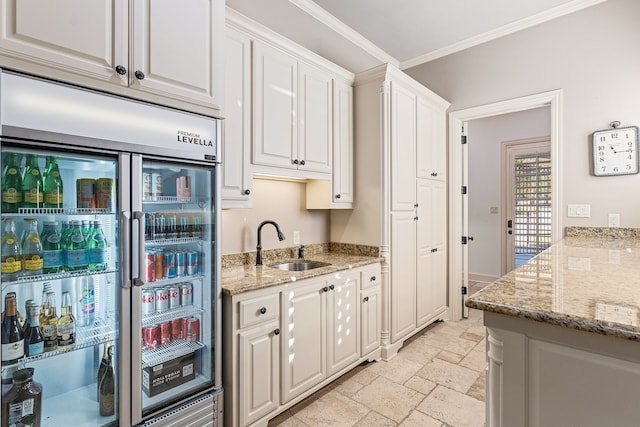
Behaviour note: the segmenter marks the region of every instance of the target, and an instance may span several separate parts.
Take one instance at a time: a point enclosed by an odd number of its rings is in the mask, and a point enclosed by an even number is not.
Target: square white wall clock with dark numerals
[[[619,127],[593,132],[593,174],[595,176],[633,175],[638,173],[638,126]]]

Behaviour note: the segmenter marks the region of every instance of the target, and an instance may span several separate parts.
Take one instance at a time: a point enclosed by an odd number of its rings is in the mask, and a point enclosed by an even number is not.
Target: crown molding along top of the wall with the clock
[[[444,56],[460,52],[464,49],[468,49],[470,47],[477,46],[479,44],[486,43],[488,41],[524,30],[526,28],[533,27],[534,25],[542,24],[544,22],[551,21],[552,19],[556,19],[561,16],[586,9],[587,7],[591,7],[599,3],[604,3],[605,1],[607,0],[573,0],[544,12],[540,12],[527,18],[512,22],[510,24],[503,25],[502,27],[498,27],[495,30],[487,31],[486,33],[482,33],[474,37],[469,37],[468,39],[461,40],[442,49],[436,49],[432,52],[417,56],[413,59],[402,61],[400,62],[398,68],[400,68],[401,70],[406,70],[407,68],[415,67],[417,65],[433,61],[434,59],[442,58]]]

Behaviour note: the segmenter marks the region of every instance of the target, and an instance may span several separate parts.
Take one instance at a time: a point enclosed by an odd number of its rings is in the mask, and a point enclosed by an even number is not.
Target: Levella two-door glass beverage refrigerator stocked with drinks
[[[222,425],[220,120],[3,70],[0,125],[2,426]]]

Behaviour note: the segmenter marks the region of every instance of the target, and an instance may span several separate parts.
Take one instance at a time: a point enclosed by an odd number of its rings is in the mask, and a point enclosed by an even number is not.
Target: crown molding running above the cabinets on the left
[[[393,64],[396,67],[400,65],[400,61],[389,55],[384,50],[373,44],[369,39],[363,37],[360,33],[353,28],[340,21],[335,16],[318,6],[311,0],[289,0],[291,4],[300,8],[313,18],[317,19],[322,24],[326,25],[329,29],[335,31],[337,34],[351,41],[354,45],[367,52],[369,55],[378,59],[382,63]]]

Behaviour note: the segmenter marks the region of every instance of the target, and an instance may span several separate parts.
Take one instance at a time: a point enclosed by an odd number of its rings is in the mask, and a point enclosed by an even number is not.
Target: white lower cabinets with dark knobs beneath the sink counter
[[[380,358],[380,264],[223,297],[225,424],[266,426]]]

